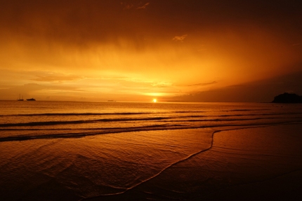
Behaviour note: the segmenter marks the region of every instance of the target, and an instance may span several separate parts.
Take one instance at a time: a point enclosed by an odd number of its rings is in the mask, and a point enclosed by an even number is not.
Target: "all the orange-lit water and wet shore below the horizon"
[[[0,200],[287,196],[301,127],[302,104],[0,101]]]

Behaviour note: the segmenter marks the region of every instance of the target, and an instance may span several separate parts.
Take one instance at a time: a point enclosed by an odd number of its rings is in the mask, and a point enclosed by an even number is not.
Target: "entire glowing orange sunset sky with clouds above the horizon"
[[[0,99],[302,95],[301,1],[0,2]]]

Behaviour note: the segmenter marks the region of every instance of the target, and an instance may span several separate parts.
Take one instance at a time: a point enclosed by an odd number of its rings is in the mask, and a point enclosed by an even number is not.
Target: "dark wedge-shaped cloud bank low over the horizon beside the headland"
[[[216,90],[195,92],[178,97],[178,101],[188,102],[272,102],[276,95],[294,92],[302,95],[302,71],[285,74],[262,81],[230,85]]]

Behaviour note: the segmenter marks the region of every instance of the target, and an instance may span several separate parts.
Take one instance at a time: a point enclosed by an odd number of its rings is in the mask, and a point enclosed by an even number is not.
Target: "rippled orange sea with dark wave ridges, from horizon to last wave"
[[[301,104],[0,102],[0,141],[300,120]]]

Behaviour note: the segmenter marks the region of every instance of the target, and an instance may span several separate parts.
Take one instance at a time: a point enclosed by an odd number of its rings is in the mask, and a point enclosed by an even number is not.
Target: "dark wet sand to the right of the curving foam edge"
[[[213,146],[121,195],[88,200],[300,200],[302,125],[214,134]]]

